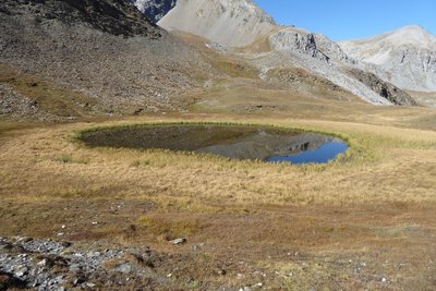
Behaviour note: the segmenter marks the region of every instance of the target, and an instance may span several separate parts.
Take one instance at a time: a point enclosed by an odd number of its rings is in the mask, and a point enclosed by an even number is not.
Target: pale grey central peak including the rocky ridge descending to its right
[[[391,105],[397,100],[386,98],[348,70],[341,70],[356,62],[336,43],[304,29],[279,26],[251,0],[179,0],[158,25],[205,37],[230,50],[242,47],[262,72],[300,68],[367,102]],[[242,58],[246,57],[244,53]]]

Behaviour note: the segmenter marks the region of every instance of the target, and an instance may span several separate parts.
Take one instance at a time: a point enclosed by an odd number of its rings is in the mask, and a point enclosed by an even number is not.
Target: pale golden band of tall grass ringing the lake
[[[218,124],[245,124],[225,121]],[[253,123],[253,122],[250,122]],[[161,122],[150,122],[156,125]],[[174,121],[165,124],[186,124]],[[192,124],[217,124],[193,122]],[[44,196],[156,196],[185,197],[199,204],[313,204],[364,201],[433,201],[434,148],[436,134],[428,131],[395,129],[367,124],[318,121],[256,122],[289,130],[334,134],[350,145],[350,150],[328,165],[292,167],[261,161],[239,161],[213,155],[193,155],[168,150],[87,148],[77,136],[90,131],[132,123],[107,125],[74,124],[51,130],[31,130],[7,141],[1,156],[2,193]],[[135,126],[144,126],[135,123]],[[65,132],[68,134],[65,135]],[[33,156],[34,150],[39,157]],[[19,154],[20,153],[20,154]],[[53,163],[52,158],[68,162]],[[80,157],[80,158],[73,158]],[[422,162],[416,165],[422,157]],[[74,160],[86,160],[77,163]],[[34,162],[37,171],[29,169]],[[50,161],[50,162],[48,162]],[[73,162],[71,162],[73,161]],[[69,167],[68,172],[63,171]],[[14,169],[14,173],[10,171]],[[23,179],[16,191],[16,174]],[[396,172],[404,172],[403,175]],[[53,184],[56,177],[57,182]],[[426,181],[424,187],[411,187],[409,181]],[[378,183],[378,184],[376,184]],[[32,191],[28,191],[32,189]],[[72,189],[74,191],[66,191]],[[380,192],[380,190],[383,190]],[[410,190],[411,192],[409,192]],[[414,195],[416,191],[427,193]],[[387,193],[385,193],[387,192]],[[94,193],[94,194],[93,194]],[[99,194],[100,193],[100,194]]]

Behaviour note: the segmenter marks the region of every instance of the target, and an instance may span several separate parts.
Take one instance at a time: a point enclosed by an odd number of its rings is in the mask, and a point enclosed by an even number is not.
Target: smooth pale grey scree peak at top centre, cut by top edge
[[[247,46],[276,28],[274,20],[250,0],[179,0],[158,24],[229,47]]]

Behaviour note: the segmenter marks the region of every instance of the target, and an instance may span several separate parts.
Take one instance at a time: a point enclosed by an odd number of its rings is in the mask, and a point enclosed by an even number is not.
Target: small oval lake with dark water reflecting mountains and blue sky
[[[169,149],[292,165],[326,163],[349,148],[335,136],[262,125],[143,124],[86,131],[80,140],[90,147]]]

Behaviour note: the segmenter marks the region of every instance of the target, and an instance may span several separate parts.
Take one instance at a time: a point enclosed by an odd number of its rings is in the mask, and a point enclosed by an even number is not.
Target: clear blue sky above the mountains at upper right
[[[436,35],[436,0],[253,0],[278,24],[332,40],[379,35],[416,24]]]

